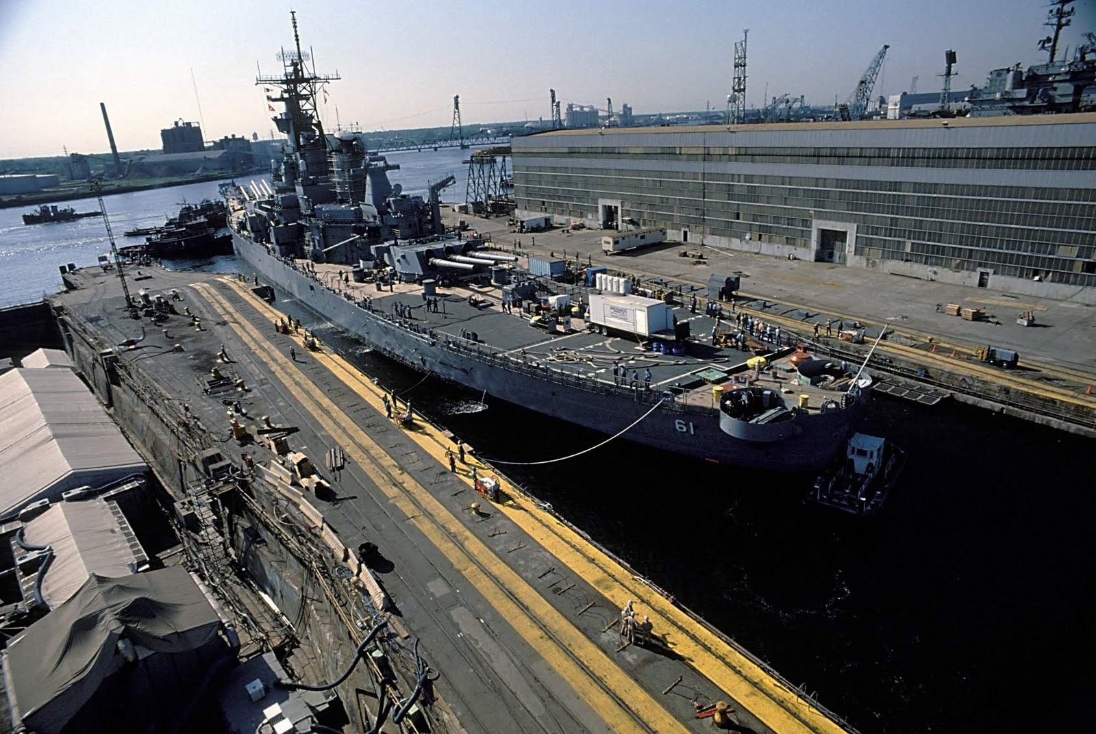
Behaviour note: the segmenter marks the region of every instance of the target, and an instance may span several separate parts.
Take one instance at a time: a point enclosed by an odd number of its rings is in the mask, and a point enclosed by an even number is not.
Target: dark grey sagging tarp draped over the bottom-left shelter
[[[64,727],[122,666],[122,638],[158,653],[183,653],[209,642],[219,624],[182,566],[124,578],[92,575],[8,645],[23,722],[38,732]]]

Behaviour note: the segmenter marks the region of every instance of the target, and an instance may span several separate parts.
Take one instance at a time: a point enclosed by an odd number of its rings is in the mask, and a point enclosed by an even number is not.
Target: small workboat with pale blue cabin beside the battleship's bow
[[[855,433],[833,463],[819,474],[811,498],[853,515],[874,515],[905,465],[905,451],[879,436]]]

